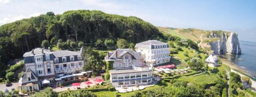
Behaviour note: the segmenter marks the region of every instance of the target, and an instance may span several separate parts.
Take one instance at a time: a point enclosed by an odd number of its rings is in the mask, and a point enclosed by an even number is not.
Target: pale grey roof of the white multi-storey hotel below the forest
[[[135,45],[135,48],[155,49],[154,45],[167,45],[167,44],[157,40],[148,40],[141,43],[137,43]],[[169,46],[167,45],[167,47]]]

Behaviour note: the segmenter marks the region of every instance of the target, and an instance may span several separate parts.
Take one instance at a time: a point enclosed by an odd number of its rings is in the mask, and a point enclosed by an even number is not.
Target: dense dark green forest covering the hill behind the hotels
[[[11,59],[23,58],[25,52],[46,45],[75,49],[82,44],[108,50],[117,48],[111,44],[116,44],[118,39],[134,45],[162,38],[156,26],[134,16],[98,10],[72,10],[58,15],[47,12],[0,26],[0,68],[7,68]]]

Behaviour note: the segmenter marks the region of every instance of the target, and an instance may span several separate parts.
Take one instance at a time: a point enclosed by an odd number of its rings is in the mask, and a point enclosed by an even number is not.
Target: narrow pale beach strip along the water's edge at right
[[[239,74],[241,77],[242,77],[242,76],[249,77],[250,80],[251,80],[251,82],[252,82],[252,83],[251,83],[251,87],[256,88],[256,79],[255,79],[255,78],[251,77],[250,75],[247,75],[247,74],[245,73],[245,70],[243,70],[243,69],[241,69],[241,68],[235,66],[235,65],[234,65],[233,63],[231,63],[230,61],[225,60],[225,59],[223,59],[223,58],[222,58],[221,60],[222,60],[222,62],[223,62],[226,66],[228,66],[228,67],[230,68],[230,72],[237,73],[237,74]]]

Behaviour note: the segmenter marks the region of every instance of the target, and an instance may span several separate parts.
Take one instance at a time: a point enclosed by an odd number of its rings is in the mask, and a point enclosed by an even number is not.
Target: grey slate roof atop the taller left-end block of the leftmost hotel
[[[42,50],[44,51],[44,53],[42,53]],[[32,53],[32,51],[34,51],[34,54]],[[48,50],[48,49],[43,49],[43,48],[36,48],[34,50],[31,50],[31,51],[26,52],[25,54],[23,54],[23,57],[43,55],[43,54],[51,54],[51,51]]]

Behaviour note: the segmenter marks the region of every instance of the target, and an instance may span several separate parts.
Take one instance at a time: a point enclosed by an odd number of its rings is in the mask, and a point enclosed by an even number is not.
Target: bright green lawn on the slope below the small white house
[[[209,73],[204,73],[198,76],[183,76],[178,78],[178,80],[184,80],[196,84],[203,84],[203,83],[214,83],[217,78],[215,74],[209,74]]]

